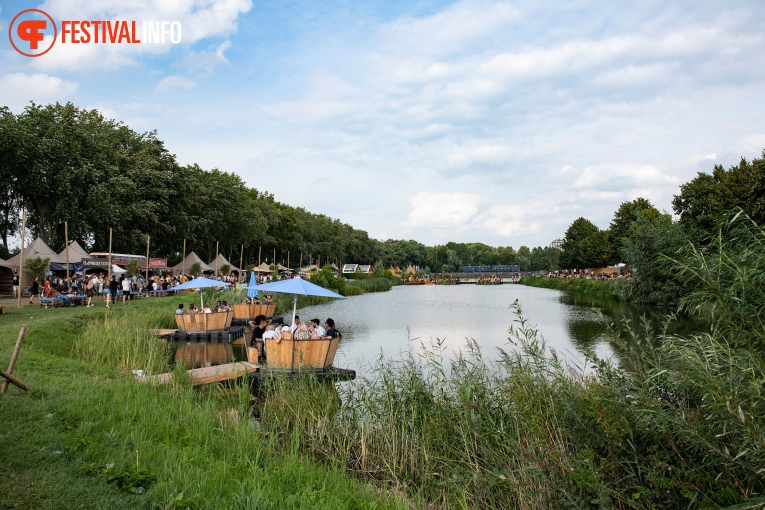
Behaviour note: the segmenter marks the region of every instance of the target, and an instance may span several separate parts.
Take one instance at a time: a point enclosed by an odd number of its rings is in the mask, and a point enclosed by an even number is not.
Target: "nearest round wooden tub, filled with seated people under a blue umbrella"
[[[289,333],[286,335],[292,336]],[[335,361],[337,347],[342,337],[333,339],[295,340],[285,338],[282,341],[266,340],[266,360],[268,368],[328,368]]]

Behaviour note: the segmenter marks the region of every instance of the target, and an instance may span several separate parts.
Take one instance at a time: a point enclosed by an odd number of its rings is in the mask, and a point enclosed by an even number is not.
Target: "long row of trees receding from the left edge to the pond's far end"
[[[233,173],[180,165],[155,131],[138,133],[97,110],[31,103],[18,115],[0,108],[0,257],[20,233],[22,208],[31,237],[54,250],[69,239],[89,251],[144,253],[173,264],[186,252],[205,260],[217,249],[238,264],[263,261],[354,262],[458,271],[465,265],[519,264],[553,269],[557,250],[494,248],[481,243],[428,247],[378,241],[337,219],[276,201]]]

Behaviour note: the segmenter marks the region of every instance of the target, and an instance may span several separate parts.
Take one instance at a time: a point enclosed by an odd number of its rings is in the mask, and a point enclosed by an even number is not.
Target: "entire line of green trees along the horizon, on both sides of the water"
[[[763,153],[765,158],[765,152]],[[554,247],[492,247],[449,242],[425,246],[415,240],[379,241],[367,232],[322,214],[276,201],[248,187],[230,172],[180,165],[155,131],[138,133],[97,110],[71,103],[30,103],[18,115],[0,108],[0,257],[11,255],[8,240],[27,229],[54,250],[70,240],[90,251],[144,253],[180,261],[186,252],[214,258],[217,249],[238,264],[263,261],[292,267],[300,262],[370,263],[376,267],[418,266],[456,272],[463,265],[518,265],[524,271],[604,267],[626,262],[640,268],[655,253],[713,234],[715,219],[741,207],[758,224],[765,218],[764,159],[683,184],[673,201],[679,217],[662,213],[648,200],[621,204],[608,229],[578,218],[566,231],[562,250]],[[650,267],[643,267],[644,272]]]

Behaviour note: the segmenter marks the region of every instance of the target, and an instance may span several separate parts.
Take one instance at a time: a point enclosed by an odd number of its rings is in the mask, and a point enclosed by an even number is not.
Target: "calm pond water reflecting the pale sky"
[[[508,327],[515,317],[510,305],[518,299],[524,317],[539,328],[547,345],[572,362],[581,362],[582,348],[601,357],[613,357],[606,325],[597,308],[610,321],[636,320],[642,313],[658,322],[661,310],[595,302],[549,289],[524,285],[418,285],[398,286],[299,311],[302,320],[327,317],[343,334],[334,365],[364,371],[382,353],[386,358],[418,352],[422,343],[443,341],[454,356],[474,338],[486,358],[497,348],[511,349]],[[680,324],[678,332],[692,325]]]

